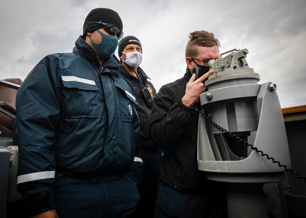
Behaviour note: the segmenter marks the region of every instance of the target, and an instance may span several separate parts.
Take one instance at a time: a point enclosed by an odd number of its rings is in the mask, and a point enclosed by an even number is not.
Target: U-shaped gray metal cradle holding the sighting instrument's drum
[[[276,91],[268,89],[268,83],[261,86],[257,98],[259,124],[255,144],[259,150],[269,154],[275,160],[291,167],[288,141],[286,136],[282,110],[278,101]],[[283,167],[267,160],[261,154],[252,151],[244,160],[240,161],[216,161],[213,158],[211,140],[205,131],[203,118],[199,118],[199,140],[198,140],[198,168],[199,170],[211,173],[279,173],[284,172]],[[201,131],[201,130],[204,131]],[[222,145],[223,146],[223,145]],[[211,148],[207,148],[211,147]],[[218,146],[220,149],[220,146]],[[222,148],[224,149],[224,148]],[[207,153],[207,154],[206,154]],[[200,155],[199,155],[200,154]],[[237,181],[239,183],[239,181]],[[254,181],[256,182],[256,181]],[[259,182],[259,181],[258,181]],[[274,181],[271,181],[274,182]]]

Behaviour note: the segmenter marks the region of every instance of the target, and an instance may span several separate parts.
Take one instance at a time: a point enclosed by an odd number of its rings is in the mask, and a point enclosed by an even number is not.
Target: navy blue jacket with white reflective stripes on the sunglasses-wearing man
[[[120,66],[112,56],[100,67],[80,36],[73,53],[48,55],[34,67],[17,93],[18,176],[56,170],[101,182],[129,171],[138,103]],[[48,193],[53,182],[23,182],[18,192],[24,198]]]

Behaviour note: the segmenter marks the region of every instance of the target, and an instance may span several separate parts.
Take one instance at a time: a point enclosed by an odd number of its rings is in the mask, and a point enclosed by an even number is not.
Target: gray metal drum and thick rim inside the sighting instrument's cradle
[[[211,108],[211,118],[218,125],[230,132],[256,131],[258,111],[256,98],[260,84],[235,85],[213,89],[212,99],[208,100],[203,93],[200,102],[203,108]],[[214,133],[221,133],[214,129]]]

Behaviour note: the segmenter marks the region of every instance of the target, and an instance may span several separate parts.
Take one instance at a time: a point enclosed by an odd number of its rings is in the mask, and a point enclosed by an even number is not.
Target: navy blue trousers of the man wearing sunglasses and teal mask
[[[136,180],[129,173],[95,183],[63,175],[55,179],[53,191],[60,218],[127,217],[140,201]]]

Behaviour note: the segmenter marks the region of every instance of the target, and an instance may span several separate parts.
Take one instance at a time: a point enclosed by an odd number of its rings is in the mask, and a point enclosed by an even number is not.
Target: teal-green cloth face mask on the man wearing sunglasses
[[[102,41],[97,44],[92,40],[91,36],[89,36],[90,41],[103,58],[110,58],[117,49],[118,38],[116,36],[106,35],[99,30],[97,30],[97,32],[101,35]]]

